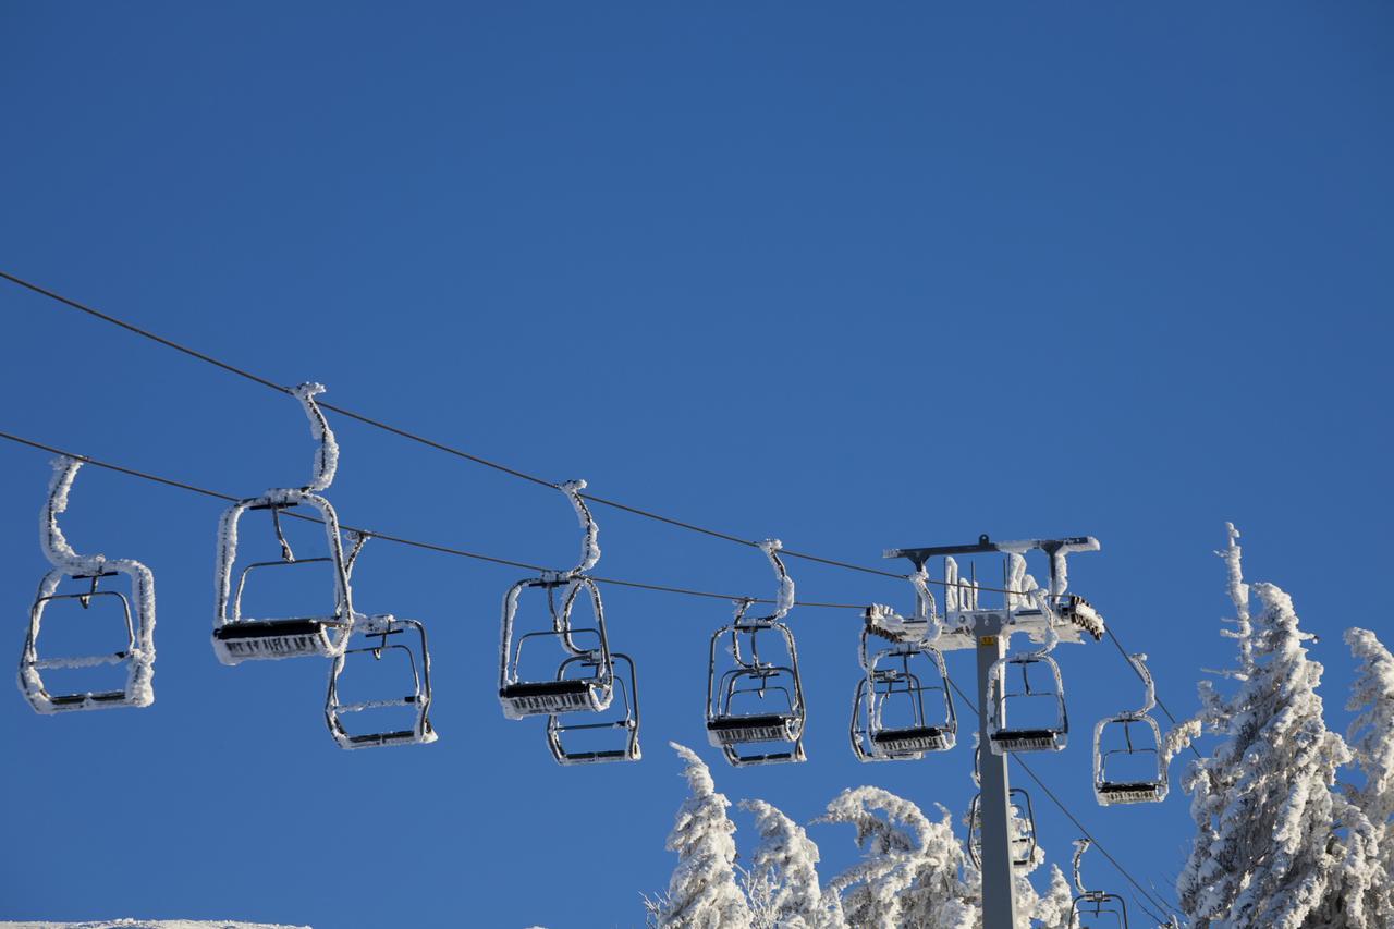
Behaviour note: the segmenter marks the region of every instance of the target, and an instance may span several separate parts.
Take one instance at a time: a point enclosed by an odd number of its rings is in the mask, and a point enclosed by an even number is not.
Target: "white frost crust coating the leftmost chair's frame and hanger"
[[[82,462],[60,456],[53,459],[53,477],[49,481],[49,497],[45,502],[39,522],[39,545],[45,557],[53,565],[39,582],[39,593],[35,597],[33,610],[29,614],[29,633],[25,637],[24,651],[20,656],[20,690],[29,700],[29,704],[39,713],[56,713],[59,707],[45,695],[42,668],[77,668],[92,667],[95,664],[113,664],[123,658],[113,656],[96,656],[86,658],[52,658],[42,660],[38,656],[39,630],[43,625],[43,612],[47,607],[45,597],[52,596],[63,579],[68,575],[96,575],[105,571],[114,571],[125,575],[131,582],[134,603],[131,604],[131,628],[134,643],[128,658],[125,678],[124,703],[98,703],[85,700],[81,706],[64,706],[61,711],[81,711],[99,709],[117,709],[121,706],[151,706],[155,703],[155,575],[144,564],[134,558],[107,558],[105,555],[79,555],[68,544],[63,530],[59,527],[59,516],[68,509],[68,491],[77,477]]]

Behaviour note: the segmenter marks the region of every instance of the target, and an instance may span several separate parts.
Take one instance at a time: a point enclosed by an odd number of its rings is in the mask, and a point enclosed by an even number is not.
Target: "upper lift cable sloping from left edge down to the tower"
[[[230,364],[227,361],[223,361],[220,358],[215,358],[210,354],[206,354],[206,353],[199,352],[197,349],[191,349],[191,347],[188,347],[185,345],[174,342],[173,339],[166,339],[164,336],[156,335],[156,333],[151,332],[149,329],[138,326],[138,325],[135,325],[132,322],[127,322],[125,319],[121,319],[120,317],[114,317],[114,315],[112,315],[109,312],[103,312],[103,311],[100,311],[100,310],[98,310],[95,307],[89,307],[85,303],[79,303],[78,300],[74,300],[71,297],[66,297],[66,296],[63,296],[63,294],[60,294],[60,293],[57,293],[54,290],[49,290],[47,287],[40,286],[40,285],[32,283],[32,282],[25,280],[22,278],[17,278],[15,275],[11,275],[11,273],[8,273],[6,271],[0,271],[0,279],[8,280],[8,282],[11,282],[14,285],[18,285],[20,287],[31,290],[32,293],[36,293],[39,296],[43,296],[43,297],[47,297],[47,299],[54,300],[57,303],[61,303],[61,304],[64,304],[67,307],[71,307],[72,310],[78,310],[79,312],[85,312],[89,317],[93,317],[96,319],[102,319],[103,322],[109,322],[109,324],[112,324],[114,326],[125,329],[127,332],[131,332],[134,335],[138,335],[138,336],[142,336],[142,338],[149,339],[152,342],[156,342],[156,343],[159,343],[159,345],[162,345],[162,346],[164,346],[167,349],[174,349],[176,352],[181,352],[181,353],[192,357],[192,358],[197,358],[197,360],[204,361],[206,364],[212,364],[212,365],[215,365],[217,368],[222,368],[223,371],[227,371],[230,374],[236,374],[236,375],[238,375],[241,378],[252,381],[254,384],[259,384],[262,386],[270,388],[270,389],[277,391],[280,393],[293,393],[294,392],[291,388],[289,388],[286,385],[282,385],[282,384],[276,384],[275,381],[263,378],[259,374],[254,374],[251,371],[247,371],[245,368],[240,368],[240,367],[237,367],[234,364]],[[428,448],[434,448],[434,449],[436,449],[439,452],[445,452],[447,455],[454,455],[456,458],[463,458],[463,459],[474,462],[477,464],[484,464],[485,467],[491,467],[491,469],[493,469],[496,471],[502,471],[503,474],[510,474],[513,477],[519,477],[521,480],[530,481],[530,483],[537,484],[539,487],[552,487],[552,488],[560,487],[555,481],[549,481],[549,480],[537,477],[535,474],[528,474],[527,471],[520,471],[520,470],[517,470],[514,467],[509,467],[507,464],[500,464],[499,462],[493,462],[493,460],[482,458],[480,455],[474,455],[471,452],[466,452],[466,451],[454,448],[452,445],[446,445],[443,442],[438,442],[435,439],[427,438],[427,437],[420,435],[417,432],[411,432],[408,430],[403,430],[403,428],[399,428],[396,425],[392,425],[390,423],[383,423],[382,420],[374,418],[371,416],[364,416],[362,413],[355,413],[353,410],[344,409],[342,406],[336,406],[333,403],[321,403],[319,406],[321,406],[321,409],[330,410],[333,413],[337,413],[339,416],[344,416],[344,417],[348,417],[351,420],[357,420],[360,423],[364,423],[365,425],[371,425],[374,428],[383,430],[386,432],[392,432],[393,435],[399,435],[399,437],[410,439],[413,442],[418,442],[421,445],[425,445]],[[753,540],[749,540],[749,538],[742,538],[740,536],[732,536],[730,533],[718,531],[715,529],[707,529],[704,526],[697,526],[694,523],[683,522],[680,519],[673,519],[671,516],[664,516],[662,513],[655,513],[652,511],[641,509],[638,506],[630,506],[627,504],[622,504],[619,501],[609,499],[609,498],[605,498],[605,497],[597,497],[594,494],[583,494],[583,497],[585,499],[594,502],[594,504],[599,504],[602,506],[609,506],[612,509],[620,509],[620,511],[625,511],[627,513],[633,513],[636,516],[641,516],[644,519],[651,519],[651,520],[655,520],[655,522],[666,523],[669,526],[675,526],[677,529],[686,529],[689,531],[694,531],[694,533],[700,533],[700,534],[704,534],[704,536],[710,536],[712,538],[721,538],[721,540],[725,540],[725,541],[732,541],[732,543],[736,543],[736,544],[740,544],[740,545],[749,545],[751,548],[758,548],[760,547],[758,541],[753,541]],[[882,571],[880,568],[868,568],[866,565],[855,565],[855,564],[850,564],[850,562],[838,561],[835,558],[824,558],[821,555],[813,555],[810,552],[795,551],[795,550],[788,550],[786,548],[783,551],[783,554],[788,555],[789,558],[799,558],[802,561],[811,561],[811,562],[817,562],[820,565],[829,565],[832,568],[842,568],[845,571],[856,571],[856,572],[861,572],[861,573],[866,573],[866,575],[877,575],[877,576],[881,576],[881,577],[891,577],[891,579],[895,579],[895,580],[903,580],[905,579],[905,575],[895,573],[895,572],[891,572],[891,571]],[[942,582],[942,580],[930,580],[930,583],[934,583],[934,584],[938,584],[938,586],[948,586],[947,582]],[[1022,593],[1022,591],[1012,591],[1012,590],[999,590],[999,589],[995,589],[995,587],[980,587],[980,590],[991,591],[991,593],[1002,593],[1002,594],[1008,594],[1008,593],[1020,594]],[[809,604],[806,604],[806,605],[809,605]]]

